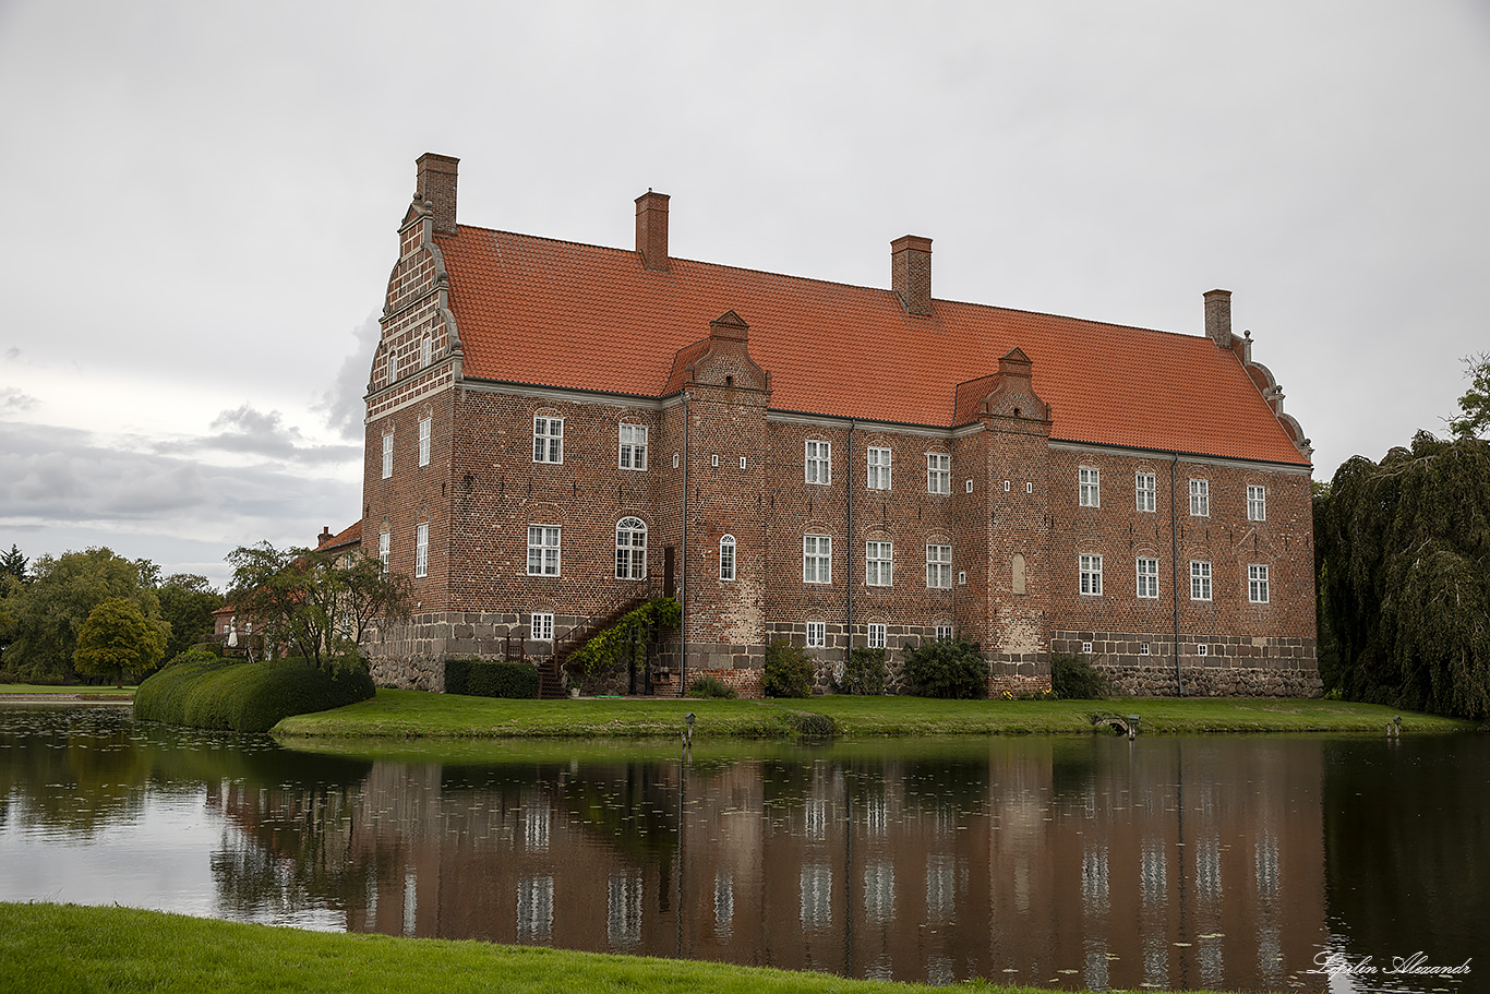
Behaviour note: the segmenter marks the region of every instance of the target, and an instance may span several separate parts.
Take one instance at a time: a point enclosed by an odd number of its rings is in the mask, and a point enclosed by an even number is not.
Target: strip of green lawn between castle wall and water
[[[694,739],[785,739],[946,735],[1089,735],[1094,714],[1137,714],[1144,735],[1216,732],[1368,732],[1384,735],[1393,715],[1405,733],[1463,732],[1475,726],[1344,700],[1118,697],[1113,700],[927,700],[830,696],[806,700],[678,700],[600,697],[505,700],[378,690],[334,711],[274,726],[285,738],[602,738],[676,739],[694,714]]]

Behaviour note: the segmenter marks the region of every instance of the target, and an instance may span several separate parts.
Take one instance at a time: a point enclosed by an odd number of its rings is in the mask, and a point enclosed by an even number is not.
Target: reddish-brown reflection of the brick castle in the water
[[[219,803],[294,864],[286,899],[352,931],[1092,988],[1277,988],[1313,966],[1317,744],[988,748],[687,772],[374,763]],[[219,887],[265,885],[252,858],[225,855]]]

